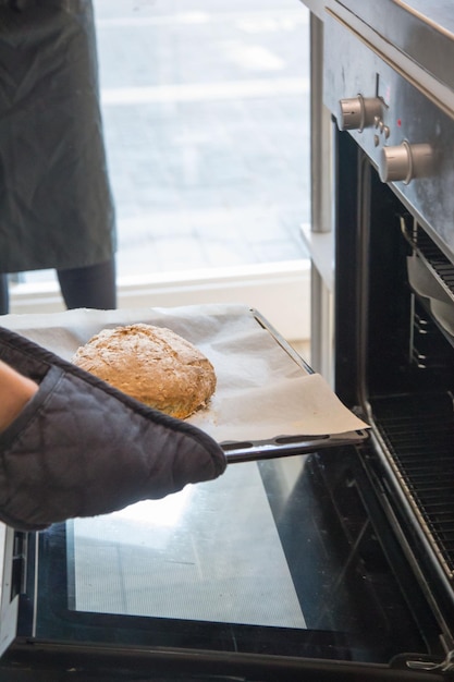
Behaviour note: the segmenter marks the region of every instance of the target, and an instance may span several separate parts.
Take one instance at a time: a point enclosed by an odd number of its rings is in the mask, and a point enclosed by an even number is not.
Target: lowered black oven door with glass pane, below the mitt
[[[444,679],[364,458],[367,443],[245,461],[15,534],[0,680]]]

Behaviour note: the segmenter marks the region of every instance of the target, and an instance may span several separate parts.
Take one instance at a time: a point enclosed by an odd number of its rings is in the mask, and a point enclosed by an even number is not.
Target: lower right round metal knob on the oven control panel
[[[395,147],[381,150],[379,173],[382,182],[400,182],[406,185],[415,178],[427,178],[432,169],[432,148],[430,145],[410,145],[404,141]]]

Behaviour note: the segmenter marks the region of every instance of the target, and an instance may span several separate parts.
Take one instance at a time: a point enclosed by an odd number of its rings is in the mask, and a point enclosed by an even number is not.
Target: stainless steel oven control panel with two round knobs
[[[324,20],[323,102],[382,182],[454,260],[454,111],[334,14]],[[451,113],[451,114],[450,114]],[[347,169],[341,169],[347,172]]]

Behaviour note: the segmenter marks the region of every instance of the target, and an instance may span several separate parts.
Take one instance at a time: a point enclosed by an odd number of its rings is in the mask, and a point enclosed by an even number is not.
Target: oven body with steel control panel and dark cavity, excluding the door
[[[454,632],[452,14],[443,2],[333,3],[323,81],[335,150],[335,390],[371,425],[363,461],[437,620],[446,669]]]

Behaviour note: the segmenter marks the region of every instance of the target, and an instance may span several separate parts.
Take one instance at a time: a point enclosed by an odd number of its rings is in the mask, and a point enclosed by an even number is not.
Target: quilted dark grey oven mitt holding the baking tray
[[[222,449],[200,429],[1,327],[0,358],[39,383],[0,434],[0,520],[15,528],[162,498],[225,470]]]

